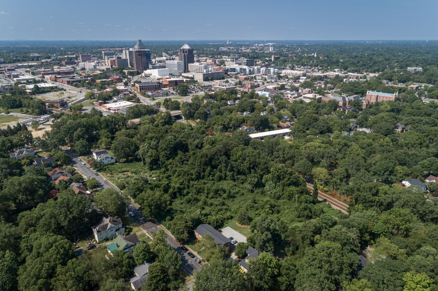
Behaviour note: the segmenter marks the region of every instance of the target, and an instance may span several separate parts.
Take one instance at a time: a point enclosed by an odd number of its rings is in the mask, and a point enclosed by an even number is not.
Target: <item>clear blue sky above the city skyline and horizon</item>
[[[438,0],[1,0],[0,40],[437,40]]]

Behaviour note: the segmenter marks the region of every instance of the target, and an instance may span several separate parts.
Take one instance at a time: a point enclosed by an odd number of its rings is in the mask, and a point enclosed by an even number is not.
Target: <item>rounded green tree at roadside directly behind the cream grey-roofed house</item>
[[[123,216],[128,206],[128,197],[112,188],[107,188],[95,196],[96,205],[110,216]]]

